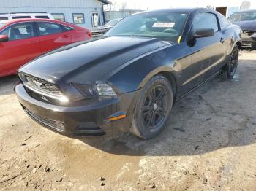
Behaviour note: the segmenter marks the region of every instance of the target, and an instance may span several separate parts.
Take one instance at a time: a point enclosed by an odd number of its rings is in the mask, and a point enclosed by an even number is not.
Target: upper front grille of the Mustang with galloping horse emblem
[[[37,90],[42,93],[47,93],[50,95],[54,96],[63,96],[59,88],[54,85],[53,83],[46,82],[43,79],[39,79],[37,77],[31,77],[31,76],[26,76],[27,82],[24,84],[27,85],[28,87],[31,87],[31,89]]]

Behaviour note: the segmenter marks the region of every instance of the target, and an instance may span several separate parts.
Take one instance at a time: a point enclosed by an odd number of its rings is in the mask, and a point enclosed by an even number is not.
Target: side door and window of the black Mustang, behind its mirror
[[[216,74],[218,67],[224,60],[226,54],[225,37],[219,27],[217,15],[211,12],[199,12],[192,21],[192,30],[197,31],[203,28],[214,29],[214,36],[195,39],[191,47],[192,63],[200,62],[202,81]]]

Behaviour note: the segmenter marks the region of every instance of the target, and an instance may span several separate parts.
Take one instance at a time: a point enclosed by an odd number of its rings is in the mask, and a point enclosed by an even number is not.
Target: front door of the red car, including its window
[[[0,42],[1,74],[13,74],[20,66],[41,54],[34,23],[14,24],[1,31],[0,35],[9,37],[7,42]]]

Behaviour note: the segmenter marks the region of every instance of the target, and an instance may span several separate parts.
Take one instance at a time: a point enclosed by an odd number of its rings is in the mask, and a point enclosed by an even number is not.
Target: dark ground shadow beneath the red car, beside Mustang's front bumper
[[[14,93],[13,88],[19,82],[17,75],[0,77],[0,96]]]

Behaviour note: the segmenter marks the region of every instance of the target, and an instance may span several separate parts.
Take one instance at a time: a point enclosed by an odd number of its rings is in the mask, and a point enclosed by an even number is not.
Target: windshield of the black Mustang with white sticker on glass
[[[184,12],[144,12],[124,18],[105,36],[143,36],[176,42],[186,20]]]

